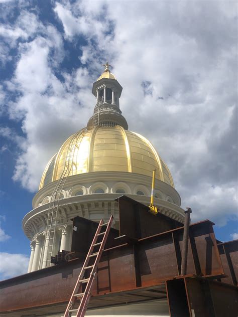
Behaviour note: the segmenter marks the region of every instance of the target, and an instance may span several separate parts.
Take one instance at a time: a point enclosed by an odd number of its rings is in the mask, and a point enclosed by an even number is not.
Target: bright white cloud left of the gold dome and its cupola
[[[62,73],[64,82],[55,76],[53,67],[57,57],[61,59],[62,42],[55,30],[50,31],[46,39],[37,37],[20,45],[15,76],[7,83],[9,89],[21,92],[18,100],[9,104],[9,113],[12,119],[23,119],[22,129],[27,135],[24,142],[18,142],[22,154],[17,158],[14,180],[21,181],[31,191],[38,188],[48,155],[52,156],[62,143],[61,135],[73,133],[89,117],[85,104],[92,99],[86,69]],[[52,31],[58,41],[51,41]],[[51,62],[52,50],[55,53],[56,49],[56,58]],[[81,110],[79,100],[85,102]]]

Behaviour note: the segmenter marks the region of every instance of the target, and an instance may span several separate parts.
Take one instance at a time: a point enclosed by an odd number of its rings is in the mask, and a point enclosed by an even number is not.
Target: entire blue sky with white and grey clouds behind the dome
[[[182,207],[238,237],[237,2],[0,0],[0,41],[1,278],[26,271],[22,218],[92,114],[106,60],[129,129],[156,146]]]

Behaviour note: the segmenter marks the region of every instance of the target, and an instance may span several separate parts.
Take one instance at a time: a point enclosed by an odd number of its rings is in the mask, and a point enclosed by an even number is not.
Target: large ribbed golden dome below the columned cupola
[[[174,187],[168,167],[150,141],[142,135],[118,125],[97,125],[79,131],[77,142],[72,146],[70,141],[74,135],[51,158],[43,173],[39,190],[61,177],[69,146],[74,162],[69,176],[90,172],[129,172],[152,176],[156,169],[156,178]]]

